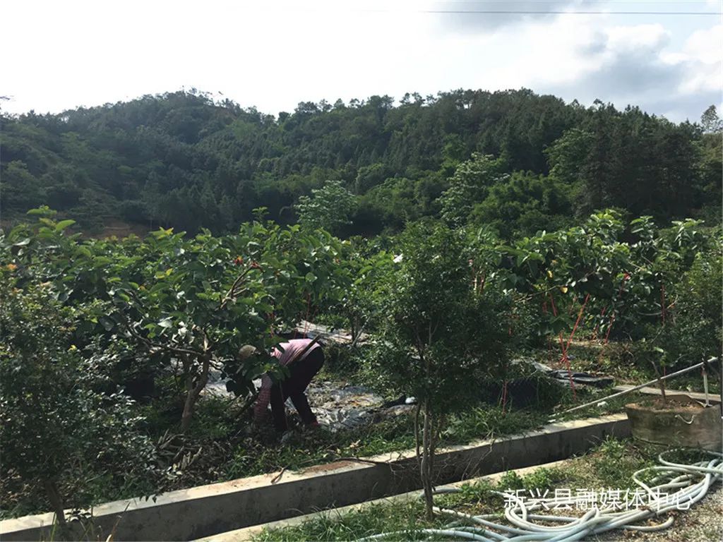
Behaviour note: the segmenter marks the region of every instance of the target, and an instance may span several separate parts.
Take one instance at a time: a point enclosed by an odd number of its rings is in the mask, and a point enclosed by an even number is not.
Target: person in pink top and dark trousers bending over
[[[319,422],[309,406],[309,400],[304,393],[309,382],[322,368],[324,364],[324,350],[319,343],[312,343],[312,339],[292,339],[287,343],[281,343],[281,350],[273,349],[273,356],[278,358],[281,365],[287,366],[289,375],[280,382],[273,382],[268,374],[261,379],[261,390],[259,397],[254,404],[254,421],[263,423],[268,417],[268,405],[271,404],[271,415],[273,424],[277,431],[286,431],[286,408],[284,403],[291,397],[296,411],[301,417],[305,426],[318,427]],[[308,348],[304,352],[305,348]],[[299,354],[301,353],[301,356]]]

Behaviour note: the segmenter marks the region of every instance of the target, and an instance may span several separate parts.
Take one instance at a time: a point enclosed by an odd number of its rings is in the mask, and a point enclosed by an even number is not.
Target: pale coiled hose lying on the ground
[[[671,450],[672,451],[672,450]],[[500,541],[541,541],[573,542],[588,535],[604,533],[613,529],[641,531],[663,530],[673,523],[673,518],[657,525],[635,525],[651,517],[663,515],[672,509],[687,509],[703,499],[712,484],[723,478],[723,454],[706,452],[714,456],[690,465],[673,463],[666,460],[669,452],[658,456],[660,465],[643,468],[633,473],[633,481],[649,497],[644,507],[623,511],[615,504],[607,507],[592,507],[581,517],[534,514],[539,509],[570,506],[576,504],[574,496],[561,496],[549,499],[534,499],[534,504],[526,504],[514,494],[494,491],[495,494],[512,499],[514,504],[505,508],[505,519],[509,525],[492,521],[496,515],[473,516],[455,510],[434,507],[435,513],[452,517],[453,522],[440,529],[398,530],[391,533],[360,538],[356,542],[379,541],[385,538],[408,538],[410,535],[426,534],[432,538],[453,538],[456,540],[474,540],[479,542]],[[656,473],[648,485],[641,480],[643,473]],[[668,491],[675,490],[674,493]],[[459,488],[439,488],[435,494],[460,493]],[[555,522],[561,525],[541,525],[537,522]]]

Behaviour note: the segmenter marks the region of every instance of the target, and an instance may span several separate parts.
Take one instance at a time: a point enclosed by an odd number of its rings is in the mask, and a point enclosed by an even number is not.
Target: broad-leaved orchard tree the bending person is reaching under
[[[114,324],[147,353],[180,361],[181,430],[190,425],[212,365],[237,395],[251,394],[255,377],[279,370],[269,356],[239,358],[239,348],[252,344],[268,353],[278,331],[294,327],[309,306],[337,302],[338,251],[328,233],[272,223],[246,223],[224,237],[160,230],[138,247],[138,274],[111,279],[117,281]]]

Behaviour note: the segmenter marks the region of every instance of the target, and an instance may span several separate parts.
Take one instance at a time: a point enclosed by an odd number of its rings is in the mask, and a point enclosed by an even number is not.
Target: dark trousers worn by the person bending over
[[[291,397],[291,403],[294,403],[296,411],[306,425],[315,423],[316,416],[309,406],[309,400],[304,393],[309,386],[312,378],[321,370],[324,365],[324,350],[316,348],[312,350],[304,359],[296,360],[289,367],[288,378],[281,382],[273,384],[271,387],[271,414],[273,416],[273,424],[278,431],[288,429],[286,423],[286,408],[284,403],[288,397]]]

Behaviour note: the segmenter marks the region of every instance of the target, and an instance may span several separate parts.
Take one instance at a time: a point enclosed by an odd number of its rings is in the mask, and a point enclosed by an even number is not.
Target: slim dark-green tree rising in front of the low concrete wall
[[[444,417],[476,399],[475,383],[505,363],[510,305],[493,281],[476,280],[477,256],[464,231],[411,225],[398,249],[395,268],[377,293],[384,317],[372,370],[419,401],[416,449],[431,518]]]

